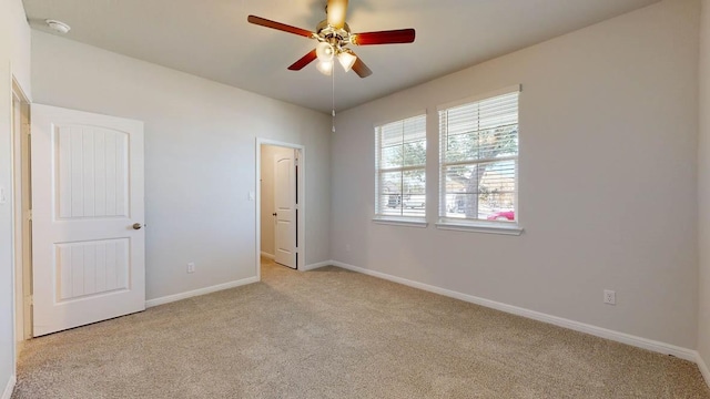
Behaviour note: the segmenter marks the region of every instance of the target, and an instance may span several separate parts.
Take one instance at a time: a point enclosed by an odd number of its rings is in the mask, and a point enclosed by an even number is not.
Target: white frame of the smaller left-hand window
[[[402,117],[397,117],[394,120],[389,120],[387,122],[381,122],[381,123],[376,123],[374,124],[374,139],[375,139],[375,207],[374,207],[374,217],[373,217],[373,222],[377,223],[377,224],[386,224],[386,225],[395,225],[395,226],[405,226],[405,227],[427,227],[428,223],[426,222],[426,217],[427,217],[427,203],[428,203],[428,198],[426,195],[426,181],[427,181],[427,156],[426,156],[426,152],[428,151],[428,145],[429,145],[429,141],[427,137],[427,121],[428,121],[428,114],[426,112],[426,110],[424,111],[418,111],[418,112],[412,112],[408,113]],[[424,141],[426,142],[426,147],[425,147],[425,157],[424,157],[424,163],[422,165],[403,165],[399,167],[382,167],[382,127],[386,126],[388,124],[393,124],[393,123],[404,123],[407,120],[412,120],[412,119],[417,119],[417,117],[423,117],[424,119]],[[404,137],[402,141],[402,144],[404,145]],[[404,161],[404,160],[403,160]],[[423,209],[423,215],[387,215],[382,213],[382,204],[381,204],[381,190],[382,190],[382,174],[383,173],[392,173],[392,172],[399,172],[399,173],[405,173],[405,172],[409,172],[409,171],[423,171],[424,172],[424,176],[425,176],[425,187],[424,187],[424,197],[425,197],[425,206]],[[399,194],[403,195],[403,194]],[[402,201],[402,200],[400,200]]]

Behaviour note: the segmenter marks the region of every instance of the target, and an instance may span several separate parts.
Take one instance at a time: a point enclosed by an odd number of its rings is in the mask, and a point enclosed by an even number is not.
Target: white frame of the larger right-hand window
[[[504,235],[520,235],[523,234],[523,227],[520,225],[520,213],[519,209],[519,165],[520,165],[520,93],[523,92],[523,86],[520,84],[516,84],[513,86],[507,86],[500,90],[496,90],[488,93],[483,93],[479,95],[466,98],[463,100],[458,100],[456,102],[450,102],[446,104],[442,104],[437,106],[437,119],[438,119],[438,137],[439,137],[439,160],[438,160],[438,168],[439,168],[439,187],[438,187],[438,222],[436,223],[436,227],[439,229],[446,231],[463,231],[463,232],[476,232],[476,233],[489,233],[489,234],[504,234]],[[473,103],[477,103],[480,101],[485,101],[488,99],[493,99],[496,96],[518,93],[518,152],[515,156],[506,156],[501,158],[483,158],[483,160],[467,160],[467,161],[458,161],[458,162],[449,162],[446,163],[446,149],[442,147],[442,143],[444,142],[444,131],[442,130],[442,112],[448,111],[454,108],[458,108],[462,105],[468,105]],[[515,221],[511,222],[499,222],[499,221],[486,221],[479,218],[458,218],[447,216],[447,201],[446,201],[446,168],[447,166],[453,165],[476,165],[481,163],[489,163],[495,161],[515,161],[515,194],[514,194],[514,212],[515,212]]]

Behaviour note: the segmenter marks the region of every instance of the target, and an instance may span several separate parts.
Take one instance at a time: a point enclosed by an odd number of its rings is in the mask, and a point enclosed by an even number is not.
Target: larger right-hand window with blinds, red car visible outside
[[[443,225],[517,226],[519,88],[501,93],[439,110]]]

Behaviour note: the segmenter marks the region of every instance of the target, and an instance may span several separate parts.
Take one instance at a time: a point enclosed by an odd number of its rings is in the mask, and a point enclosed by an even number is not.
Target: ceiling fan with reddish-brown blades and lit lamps
[[[288,66],[292,71],[300,71],[311,62],[318,59],[318,71],[323,74],[331,75],[333,72],[334,60],[337,59],[346,72],[352,69],[358,76],[367,78],[373,73],[373,71],[365,65],[353,50],[347,48],[349,44],[373,45],[414,42],[414,29],[351,33],[351,28],[345,23],[347,0],[328,0],[325,13],[327,18],[318,23],[315,32],[256,16],[248,16],[246,20],[250,23],[298,34],[318,41],[313,51]]]

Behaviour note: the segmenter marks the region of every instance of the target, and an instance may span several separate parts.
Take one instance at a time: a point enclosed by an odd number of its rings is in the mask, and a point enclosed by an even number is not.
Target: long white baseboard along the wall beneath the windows
[[[689,360],[689,361],[693,361],[693,362],[698,361],[698,356],[696,355],[697,351],[692,350],[692,349],[682,348],[682,347],[678,347],[678,346],[674,346],[674,345],[670,345],[670,344],[666,344],[666,342],[661,342],[661,341],[656,341],[656,340],[652,340],[652,339],[641,338],[641,337],[632,336],[630,334],[619,332],[619,331],[610,330],[610,329],[607,329],[607,328],[597,327],[597,326],[588,325],[588,324],[585,324],[585,323],[579,323],[579,321],[566,319],[566,318],[562,318],[562,317],[551,316],[551,315],[547,315],[547,314],[544,314],[544,313],[540,313],[540,311],[529,310],[529,309],[526,309],[526,308],[521,308],[521,307],[517,307],[517,306],[513,306],[513,305],[507,305],[507,304],[503,304],[503,303],[498,303],[498,301],[495,301],[495,300],[476,297],[476,296],[468,295],[468,294],[462,294],[462,293],[454,291],[454,290],[450,290],[450,289],[445,289],[445,288],[440,288],[440,287],[436,287],[436,286],[432,286],[432,285],[418,283],[418,282],[413,282],[413,280],[409,280],[409,279],[406,279],[406,278],[392,276],[392,275],[388,275],[388,274],[385,274],[385,273],[375,272],[375,270],[371,270],[371,269],[366,269],[366,268],[348,265],[348,264],[345,264],[345,263],[342,263],[342,262],[337,262],[337,260],[332,260],[331,264],[333,266],[342,267],[344,269],[348,269],[348,270],[352,270],[352,272],[362,273],[362,274],[365,274],[365,275],[368,275],[368,276],[386,279],[386,280],[389,280],[389,282],[393,282],[393,283],[398,283],[398,284],[406,285],[406,286],[409,286],[409,287],[413,287],[413,288],[423,289],[423,290],[426,290],[426,291],[429,291],[429,293],[444,295],[444,296],[447,296],[447,297],[450,297],[450,298],[455,298],[455,299],[460,299],[460,300],[464,300],[464,301],[467,301],[467,303],[471,303],[471,304],[480,305],[480,306],[488,307],[488,308],[491,308],[491,309],[509,313],[509,314],[513,314],[513,315],[516,315],[516,316],[527,317],[527,318],[530,318],[530,319],[534,319],[534,320],[551,324],[551,325],[555,325],[555,326],[558,326],[558,327],[568,328],[568,329],[571,329],[571,330],[575,330],[575,331],[589,334],[589,335],[592,335],[592,336],[596,336],[596,337],[600,337],[600,338],[605,338],[605,339],[609,339],[609,340],[612,340],[612,341],[627,344],[627,345],[630,345],[630,346],[635,346],[635,347],[638,347],[638,348],[643,348],[643,349],[651,350],[651,351],[659,352],[659,354],[663,354],[663,355],[672,355],[674,357],[678,357],[678,358],[681,358],[681,359],[684,359],[684,360]],[[707,368],[706,368],[706,370],[707,370]]]

